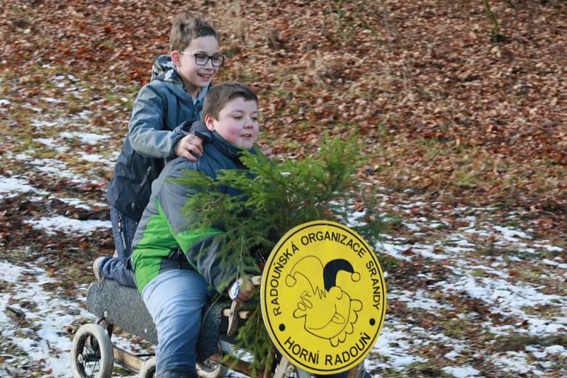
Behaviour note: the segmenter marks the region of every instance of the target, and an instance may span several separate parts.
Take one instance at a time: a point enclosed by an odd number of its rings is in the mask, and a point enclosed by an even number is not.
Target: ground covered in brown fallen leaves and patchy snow
[[[357,180],[388,221],[377,377],[567,375],[567,4],[490,4],[498,35],[481,1],[192,9],[220,30],[216,81],[259,93],[276,160],[325,131],[363,142]],[[114,249],[106,186],[180,6],[0,8],[1,376],[70,374],[91,262]]]

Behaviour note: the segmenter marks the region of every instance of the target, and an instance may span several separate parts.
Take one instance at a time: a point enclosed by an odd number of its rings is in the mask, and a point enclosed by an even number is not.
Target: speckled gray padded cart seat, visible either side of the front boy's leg
[[[197,343],[197,360],[206,360],[218,350],[220,317],[226,302],[206,306],[206,315],[201,324],[201,333]],[[128,333],[157,344],[152,316],[147,311],[137,289],[118,285],[113,280],[94,282],[86,294],[86,310],[108,323],[123,328]]]

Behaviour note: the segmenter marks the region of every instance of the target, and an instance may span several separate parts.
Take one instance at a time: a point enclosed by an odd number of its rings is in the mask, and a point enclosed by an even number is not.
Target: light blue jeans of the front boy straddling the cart
[[[196,377],[201,313],[213,290],[202,275],[187,269],[159,273],[142,290],[157,331],[156,373]]]

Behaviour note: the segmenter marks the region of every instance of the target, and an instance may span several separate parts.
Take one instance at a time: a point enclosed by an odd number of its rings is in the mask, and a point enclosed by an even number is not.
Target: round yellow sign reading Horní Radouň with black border
[[[314,374],[358,365],[384,323],[386,283],[378,259],[359,234],[335,222],[288,231],[271,251],[261,290],[276,348]]]

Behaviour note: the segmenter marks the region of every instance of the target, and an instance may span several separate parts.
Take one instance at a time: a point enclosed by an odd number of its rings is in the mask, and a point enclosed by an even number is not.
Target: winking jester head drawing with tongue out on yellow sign
[[[286,285],[301,292],[293,317],[303,318],[305,331],[329,340],[333,347],[353,332],[362,309],[361,301],[336,285],[337,273],[342,270],[350,273],[353,282],[360,280],[347,260],[337,258],[323,266],[315,256],[301,258],[286,276]]]

